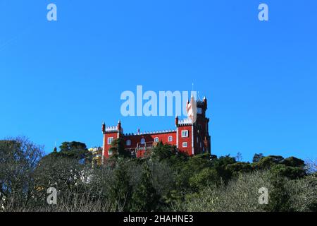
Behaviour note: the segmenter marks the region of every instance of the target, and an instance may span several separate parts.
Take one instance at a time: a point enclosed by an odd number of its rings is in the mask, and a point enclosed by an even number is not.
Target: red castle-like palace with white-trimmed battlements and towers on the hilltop
[[[209,118],[206,117],[207,99],[197,100],[197,119],[178,119],[175,117],[175,129],[168,131],[123,133],[121,122],[117,126],[106,126],[102,124],[104,135],[102,145],[102,162],[112,155],[111,143],[116,138],[123,138],[125,150],[129,150],[134,157],[142,157],[147,150],[162,141],[175,145],[180,152],[187,155],[199,153],[211,153],[211,136],[209,135]]]

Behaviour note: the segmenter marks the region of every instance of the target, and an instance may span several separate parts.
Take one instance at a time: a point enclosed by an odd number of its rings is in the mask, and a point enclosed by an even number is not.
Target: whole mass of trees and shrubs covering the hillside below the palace
[[[43,211],[316,211],[317,174],[296,157],[262,154],[254,161],[204,153],[189,157],[159,143],[151,155],[130,158],[123,140],[114,156],[92,168],[85,143],[64,142],[41,156],[23,139],[0,142],[0,189],[5,210]],[[315,165],[316,166],[316,165]],[[313,167],[310,167],[311,169]],[[58,189],[47,206],[46,189]],[[259,189],[268,189],[268,205]],[[0,197],[0,202],[3,199]]]

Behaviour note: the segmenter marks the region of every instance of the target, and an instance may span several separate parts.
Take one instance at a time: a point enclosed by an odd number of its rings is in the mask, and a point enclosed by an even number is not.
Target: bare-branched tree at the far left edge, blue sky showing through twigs
[[[26,206],[35,193],[32,175],[41,157],[42,146],[25,137],[0,141],[0,193],[6,203]]]

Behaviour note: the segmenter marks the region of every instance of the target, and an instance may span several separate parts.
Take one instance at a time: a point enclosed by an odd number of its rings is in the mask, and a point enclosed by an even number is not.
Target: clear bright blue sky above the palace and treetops
[[[0,138],[28,136],[49,153],[101,145],[102,121],[173,129],[173,117],[122,117],[120,94],[194,83],[209,100],[213,154],[315,159],[316,11],[315,0],[0,0]]]

